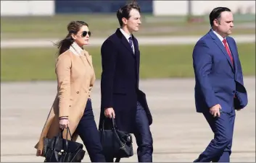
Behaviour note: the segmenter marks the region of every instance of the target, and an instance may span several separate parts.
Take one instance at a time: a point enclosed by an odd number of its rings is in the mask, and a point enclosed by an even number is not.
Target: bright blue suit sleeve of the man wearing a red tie
[[[196,80],[198,81],[202,95],[205,98],[207,107],[218,104],[218,99],[210,84],[209,74],[212,69],[212,56],[210,56],[209,48],[205,43],[199,42],[193,51],[193,66]]]

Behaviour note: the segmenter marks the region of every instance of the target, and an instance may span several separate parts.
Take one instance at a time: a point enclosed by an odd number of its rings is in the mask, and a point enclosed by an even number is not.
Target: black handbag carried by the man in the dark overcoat
[[[120,158],[133,156],[133,139],[130,133],[117,129],[114,118],[112,118],[112,128],[104,130],[104,120],[102,128],[99,129],[99,136],[105,157],[116,158],[115,162],[120,162]]]

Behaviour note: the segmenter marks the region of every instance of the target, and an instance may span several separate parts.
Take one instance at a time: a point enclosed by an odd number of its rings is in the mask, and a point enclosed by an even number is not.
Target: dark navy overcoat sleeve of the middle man
[[[102,53],[102,80],[101,80],[101,92],[102,92],[102,107],[113,107],[113,81],[115,75],[115,63],[117,50],[115,45],[106,40],[101,48]]]

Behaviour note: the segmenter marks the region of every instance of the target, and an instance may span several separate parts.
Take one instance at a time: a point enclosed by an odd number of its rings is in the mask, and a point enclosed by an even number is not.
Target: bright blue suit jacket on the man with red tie
[[[212,30],[200,38],[194,47],[194,96],[198,113],[209,111],[216,104],[220,104],[226,113],[247,105],[247,91],[236,42],[231,37],[226,39],[234,58],[234,66],[223,43]]]

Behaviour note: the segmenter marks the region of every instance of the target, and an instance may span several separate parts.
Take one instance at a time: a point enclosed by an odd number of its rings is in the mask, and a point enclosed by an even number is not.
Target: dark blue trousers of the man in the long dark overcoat
[[[138,162],[152,162],[153,153],[153,138],[149,128],[149,120],[147,119],[146,112],[141,104],[137,103],[136,111],[136,143],[138,146],[137,155]],[[107,162],[114,162],[114,158],[106,156]]]

